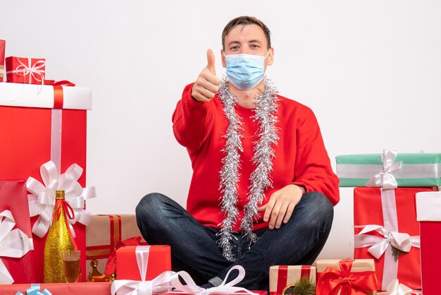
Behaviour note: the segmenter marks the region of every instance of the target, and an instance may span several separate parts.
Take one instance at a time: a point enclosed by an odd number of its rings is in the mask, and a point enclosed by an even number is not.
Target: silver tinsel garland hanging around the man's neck
[[[238,215],[237,182],[240,179],[240,152],[243,152],[243,128],[240,116],[235,112],[237,97],[228,90],[228,80],[226,78],[223,78],[221,81],[219,92],[225,116],[228,119],[228,129],[225,134],[227,141],[223,149],[225,157],[222,159],[223,168],[220,172],[221,183],[219,189],[222,193],[221,210],[224,214],[224,219],[220,231],[219,245],[223,248],[225,258],[233,261],[235,258],[232,255],[231,241],[234,239],[234,236],[232,236],[231,231]],[[244,218],[240,224],[240,229],[244,231],[244,236],[248,237],[250,244],[257,240],[256,234],[252,231],[253,221],[259,216],[257,209],[265,195],[264,191],[272,184],[273,145],[277,145],[279,139],[277,128],[275,127],[277,122],[275,114],[278,107],[277,92],[271,81],[265,79],[263,92],[259,93],[254,100],[256,109],[254,109],[255,115],[252,118],[254,118],[254,121],[258,121],[259,124],[256,131],[258,140],[254,142],[254,156],[252,159],[256,169],[250,175],[251,185],[248,192],[248,203],[244,207]]]

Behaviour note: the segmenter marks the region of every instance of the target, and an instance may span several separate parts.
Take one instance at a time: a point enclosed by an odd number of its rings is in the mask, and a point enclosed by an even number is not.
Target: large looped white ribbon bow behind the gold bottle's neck
[[[96,197],[94,186],[81,187],[78,179],[82,174],[82,168],[77,164],[70,165],[64,174],[58,175],[54,162],[49,161],[42,164],[40,174],[44,184],[32,177],[29,177],[26,181],[27,191],[31,193],[27,195],[30,216],[39,215],[37,222],[32,227],[32,232],[40,238],[46,234],[52,222],[55,193],[57,190],[63,190],[65,191],[66,201],[75,212],[74,219],[68,219],[70,230],[75,236],[72,224],[80,222],[87,225],[92,220],[92,215],[84,207],[85,200]]]

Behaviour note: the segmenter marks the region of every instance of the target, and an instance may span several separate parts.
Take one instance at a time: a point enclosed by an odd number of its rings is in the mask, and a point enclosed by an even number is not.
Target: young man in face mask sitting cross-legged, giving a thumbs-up
[[[270,31],[260,20],[231,20],[215,56],[187,85],[173,131],[187,148],[193,177],[187,210],[159,193],[137,206],[144,239],[168,244],[174,270],[218,286],[233,265],[238,286],[268,289],[271,265],[311,264],[323,248],[339,200],[313,112],[277,94],[264,78],[273,64]]]

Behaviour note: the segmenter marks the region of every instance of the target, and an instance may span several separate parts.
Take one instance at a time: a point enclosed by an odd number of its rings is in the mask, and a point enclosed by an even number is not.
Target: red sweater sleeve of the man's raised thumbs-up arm
[[[197,152],[208,138],[214,121],[213,100],[197,102],[192,99],[193,83],[187,85],[173,113],[173,133],[178,143],[190,154]]]

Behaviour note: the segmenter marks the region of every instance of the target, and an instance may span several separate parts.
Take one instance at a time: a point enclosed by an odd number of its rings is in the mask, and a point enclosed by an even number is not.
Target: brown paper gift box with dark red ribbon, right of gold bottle
[[[124,246],[147,245],[144,239],[135,238],[139,236],[141,233],[137,227],[135,215],[94,215],[92,222],[86,227],[87,274],[92,272],[90,265],[92,259],[96,259],[97,270],[101,274],[111,275],[113,272],[105,271],[109,255],[119,248],[118,243],[128,239],[136,243],[123,243]]]

